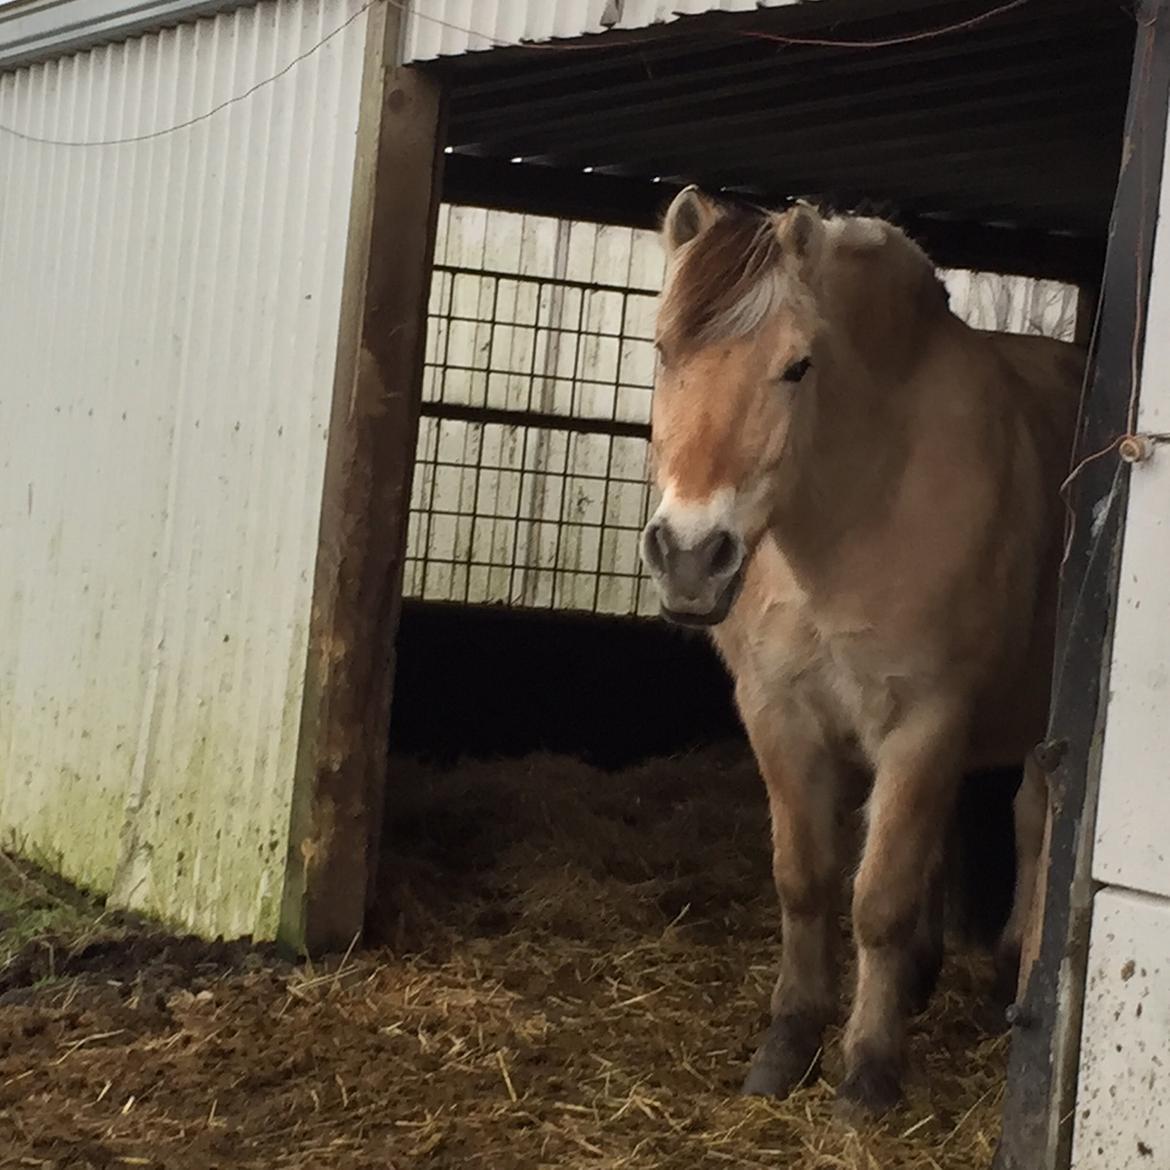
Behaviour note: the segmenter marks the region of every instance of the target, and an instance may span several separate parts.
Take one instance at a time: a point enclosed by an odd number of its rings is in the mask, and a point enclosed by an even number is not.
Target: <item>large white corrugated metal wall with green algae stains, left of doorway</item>
[[[0,123],[147,135],[359,0],[0,76]],[[118,901],[276,929],[365,18],[123,145],[0,132],[0,828]]]

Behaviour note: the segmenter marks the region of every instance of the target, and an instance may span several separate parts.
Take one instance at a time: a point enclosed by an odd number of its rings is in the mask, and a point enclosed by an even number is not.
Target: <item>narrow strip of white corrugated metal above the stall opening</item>
[[[412,0],[407,63],[817,0]]]

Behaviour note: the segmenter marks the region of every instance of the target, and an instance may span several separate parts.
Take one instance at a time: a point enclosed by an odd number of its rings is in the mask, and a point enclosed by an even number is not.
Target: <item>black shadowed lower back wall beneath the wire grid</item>
[[[548,752],[617,771],[748,751],[707,638],[653,619],[407,601],[395,689],[392,751],[438,768]],[[959,797],[952,911],[984,944],[1011,907],[1018,784],[1017,769],[982,772]]]

